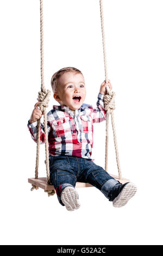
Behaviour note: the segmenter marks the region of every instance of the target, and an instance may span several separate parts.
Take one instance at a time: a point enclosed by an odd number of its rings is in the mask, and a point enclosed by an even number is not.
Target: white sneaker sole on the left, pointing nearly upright
[[[74,211],[80,207],[78,192],[71,186],[64,188],[61,193],[61,200],[68,211]]]

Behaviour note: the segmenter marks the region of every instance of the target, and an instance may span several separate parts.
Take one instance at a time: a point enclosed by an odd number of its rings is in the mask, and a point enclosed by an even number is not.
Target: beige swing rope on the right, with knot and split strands
[[[105,32],[104,32],[104,14],[103,14],[103,0],[99,0],[100,5],[100,14],[101,14],[101,28],[102,28],[102,41],[103,41],[103,54],[104,54],[104,68],[105,68],[105,82],[108,81],[108,70],[107,70],[107,62],[106,62],[106,48],[105,48]],[[104,106],[106,112],[106,138],[105,138],[105,170],[108,172],[108,145],[109,145],[109,114],[111,114],[111,124],[112,131],[114,136],[114,145],[116,152],[116,161],[118,168],[118,178],[122,178],[121,167],[120,167],[120,159],[118,154],[118,145],[117,145],[117,137],[116,137],[116,129],[114,122],[114,113],[115,109],[115,93],[110,92],[110,89],[107,89],[107,93],[104,96]]]

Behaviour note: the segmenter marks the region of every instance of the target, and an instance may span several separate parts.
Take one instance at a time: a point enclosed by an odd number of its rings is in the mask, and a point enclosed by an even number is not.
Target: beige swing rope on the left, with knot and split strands
[[[51,92],[45,88],[44,84],[44,71],[43,71],[43,0],[40,0],[40,50],[41,50],[41,92],[37,97],[39,101],[39,108],[43,113],[43,121],[45,124],[45,152],[46,152],[46,173],[47,183],[50,183],[49,174],[49,152],[48,152],[48,132],[47,132],[47,113],[46,107],[48,107],[49,96]],[[38,179],[39,170],[39,153],[40,153],[40,130],[41,130],[41,119],[37,120],[37,148],[36,148],[36,167],[35,167],[35,179]],[[37,189],[36,186],[32,186],[32,190]]]

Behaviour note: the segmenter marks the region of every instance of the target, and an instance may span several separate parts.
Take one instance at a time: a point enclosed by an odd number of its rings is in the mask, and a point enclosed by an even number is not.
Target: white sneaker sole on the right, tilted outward
[[[127,204],[128,200],[135,195],[137,188],[135,184],[129,182],[126,186],[123,187],[122,191],[118,196],[113,200],[112,204],[114,207],[122,207]]]

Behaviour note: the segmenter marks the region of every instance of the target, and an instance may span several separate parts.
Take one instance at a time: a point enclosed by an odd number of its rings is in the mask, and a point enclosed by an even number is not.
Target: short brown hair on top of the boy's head
[[[53,93],[57,92],[59,77],[61,77],[61,75],[65,74],[66,72],[74,72],[74,73],[82,74],[82,72],[79,69],[73,68],[71,66],[58,70],[57,72],[54,73],[51,79],[51,86],[52,86]]]

